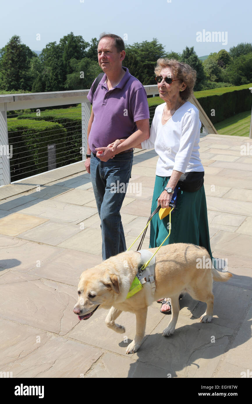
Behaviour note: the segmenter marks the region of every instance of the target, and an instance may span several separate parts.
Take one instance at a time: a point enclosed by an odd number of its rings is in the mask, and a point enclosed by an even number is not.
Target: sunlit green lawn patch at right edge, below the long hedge
[[[249,136],[251,110],[236,114],[214,125],[219,135]]]

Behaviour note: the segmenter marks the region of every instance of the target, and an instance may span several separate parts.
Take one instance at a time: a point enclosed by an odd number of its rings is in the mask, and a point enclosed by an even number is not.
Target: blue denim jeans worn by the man
[[[103,260],[126,251],[120,209],[129,183],[132,162],[133,151],[116,154],[107,162],[91,153],[90,174],[101,219]]]

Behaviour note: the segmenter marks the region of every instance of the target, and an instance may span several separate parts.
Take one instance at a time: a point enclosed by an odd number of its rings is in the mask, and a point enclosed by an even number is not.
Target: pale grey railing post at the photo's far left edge
[[[6,103],[2,103],[0,104],[0,186],[11,183],[12,145],[10,149],[9,152]]]

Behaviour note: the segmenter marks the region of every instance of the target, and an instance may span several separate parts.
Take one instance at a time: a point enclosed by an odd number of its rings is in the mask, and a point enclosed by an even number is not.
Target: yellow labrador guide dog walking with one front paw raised
[[[155,252],[157,248],[149,251]],[[164,296],[171,298],[172,318],[163,335],[169,337],[174,333],[180,310],[178,298],[181,292],[188,292],[193,299],[207,304],[201,322],[210,322],[213,316],[214,295],[213,280],[225,282],[232,275],[221,273],[211,268],[212,265],[197,265],[210,262],[210,256],[203,247],[194,244],[170,244],[162,246],[155,255],[156,290],[153,295],[150,284],[144,284],[136,295],[126,299],[129,288],[141,265],[140,253],[134,251],[121,252],[110,257],[94,268],[87,269],[80,276],[78,284],[78,302],[74,313],[79,320],[87,320],[100,306],[110,309],[106,324],[116,332],[125,333],[125,328],[114,321],[122,311],[136,314],[136,335],[128,345],[126,353],[134,353],[142,343],[145,332],[148,306]],[[210,260],[210,261],[209,261]],[[203,265],[204,266],[204,265]]]

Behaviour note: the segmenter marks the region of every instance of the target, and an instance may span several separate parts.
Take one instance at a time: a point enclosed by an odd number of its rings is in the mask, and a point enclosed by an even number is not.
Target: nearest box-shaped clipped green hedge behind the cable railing
[[[48,169],[47,145],[56,144],[56,166],[66,160],[66,129],[55,122],[8,119],[11,181],[40,174]]]

